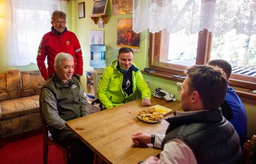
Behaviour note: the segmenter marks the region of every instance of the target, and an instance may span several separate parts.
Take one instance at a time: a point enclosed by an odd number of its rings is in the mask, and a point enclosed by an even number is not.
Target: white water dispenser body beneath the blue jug
[[[98,98],[97,87],[104,69],[86,70],[86,96],[94,101]]]

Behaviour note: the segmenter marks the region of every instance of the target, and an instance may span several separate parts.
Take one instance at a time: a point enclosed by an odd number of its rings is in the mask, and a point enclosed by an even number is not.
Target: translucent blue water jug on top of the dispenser
[[[106,66],[106,46],[99,44],[90,45],[90,52],[90,66],[92,68],[104,68]]]

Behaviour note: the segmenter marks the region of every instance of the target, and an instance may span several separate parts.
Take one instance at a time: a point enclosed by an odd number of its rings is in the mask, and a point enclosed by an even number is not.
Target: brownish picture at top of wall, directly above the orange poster
[[[112,0],[113,15],[132,13],[132,0]]]

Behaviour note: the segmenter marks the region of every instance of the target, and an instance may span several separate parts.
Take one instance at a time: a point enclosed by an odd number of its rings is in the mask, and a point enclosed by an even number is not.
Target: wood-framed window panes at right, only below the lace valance
[[[232,65],[232,85],[256,89],[256,34],[246,36],[235,30],[220,36],[207,30],[192,36],[165,30],[150,33],[150,68],[182,75],[188,66],[211,59],[225,59]]]

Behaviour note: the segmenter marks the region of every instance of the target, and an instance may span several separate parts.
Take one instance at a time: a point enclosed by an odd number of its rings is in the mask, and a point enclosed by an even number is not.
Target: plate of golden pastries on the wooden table
[[[146,123],[157,123],[164,118],[164,116],[161,113],[157,112],[156,109],[140,110],[139,112],[137,112],[137,116],[141,121]]]

